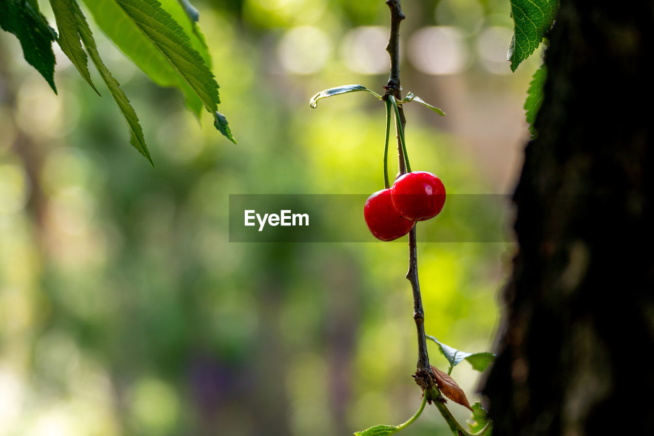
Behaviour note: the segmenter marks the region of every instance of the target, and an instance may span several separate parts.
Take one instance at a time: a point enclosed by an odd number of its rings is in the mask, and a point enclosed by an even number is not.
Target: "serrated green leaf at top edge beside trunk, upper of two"
[[[543,41],[543,36],[554,24],[559,0],[509,0],[513,17],[513,38],[507,59],[511,71],[528,58]]]

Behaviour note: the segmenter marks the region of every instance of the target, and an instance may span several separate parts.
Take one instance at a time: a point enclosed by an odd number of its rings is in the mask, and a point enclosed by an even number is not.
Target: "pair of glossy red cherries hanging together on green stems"
[[[368,197],[364,217],[375,238],[392,241],[413,228],[416,221],[432,219],[445,204],[441,179],[426,171],[406,173],[393,186]]]

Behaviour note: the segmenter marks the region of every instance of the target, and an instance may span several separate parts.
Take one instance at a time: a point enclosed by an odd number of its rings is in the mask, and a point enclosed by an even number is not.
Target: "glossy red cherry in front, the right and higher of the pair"
[[[441,179],[426,171],[406,173],[393,183],[391,198],[400,215],[411,221],[426,221],[438,215],[445,204]]]

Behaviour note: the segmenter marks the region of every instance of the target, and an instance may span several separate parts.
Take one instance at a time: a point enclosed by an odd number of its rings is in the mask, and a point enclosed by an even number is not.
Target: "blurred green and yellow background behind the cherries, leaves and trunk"
[[[341,84],[383,92],[388,8],[194,5],[237,146],[92,23],[154,170],[106,88],[98,98],[55,45],[56,96],[0,34],[0,435],[348,435],[400,424],[421,402],[405,244],[228,242],[229,194],[383,188],[384,105],[364,93],[308,101]],[[510,73],[508,1],[403,9],[404,94],[448,114],[407,105],[413,169],[448,194],[510,192],[540,56]],[[512,253],[420,244],[427,333],[489,350]],[[435,344],[430,357],[447,368]],[[478,372],[464,362],[452,375],[478,399]],[[430,407],[405,434],[449,430]]]

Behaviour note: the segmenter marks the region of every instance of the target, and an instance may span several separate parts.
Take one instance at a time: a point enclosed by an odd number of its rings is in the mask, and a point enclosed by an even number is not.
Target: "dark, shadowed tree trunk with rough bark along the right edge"
[[[494,436],[653,431],[653,5],[564,1],[551,31],[483,388]]]

